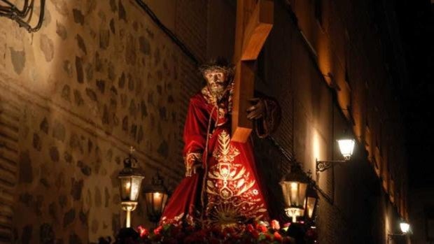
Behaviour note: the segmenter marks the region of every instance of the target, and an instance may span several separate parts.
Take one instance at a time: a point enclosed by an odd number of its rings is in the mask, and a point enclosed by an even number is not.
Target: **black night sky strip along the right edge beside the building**
[[[398,89],[405,118],[410,187],[434,187],[434,3],[396,0],[408,80]]]

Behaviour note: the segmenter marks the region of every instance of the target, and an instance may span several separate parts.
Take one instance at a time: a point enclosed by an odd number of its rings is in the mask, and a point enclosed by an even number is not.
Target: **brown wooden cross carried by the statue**
[[[238,0],[235,30],[235,89],[232,108],[232,141],[245,143],[253,124],[247,119],[248,99],[253,98],[256,59],[273,27],[272,0]]]

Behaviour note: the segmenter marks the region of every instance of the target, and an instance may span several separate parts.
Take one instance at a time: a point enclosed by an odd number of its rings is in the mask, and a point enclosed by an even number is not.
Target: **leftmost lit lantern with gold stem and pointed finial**
[[[127,212],[126,227],[131,226],[131,212],[136,209],[141,181],[145,178],[139,168],[133,167],[133,161],[137,163],[137,159],[132,156],[134,148],[130,148],[130,154],[124,159],[124,168],[120,171],[118,178],[120,180],[120,201],[124,211]]]

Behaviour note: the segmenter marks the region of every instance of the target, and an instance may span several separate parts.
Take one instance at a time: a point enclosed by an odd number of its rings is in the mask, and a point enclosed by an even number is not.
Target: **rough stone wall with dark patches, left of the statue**
[[[190,15],[206,8],[184,4],[190,17],[177,14],[177,30],[206,29],[206,18]],[[15,134],[0,137],[11,152],[0,155],[16,164],[1,196],[13,201],[17,243],[96,242],[123,224],[116,176],[130,145],[145,184],[155,171],[172,188],[183,177],[186,104],[202,84],[196,64],[135,1],[51,0],[45,11],[34,34],[1,18],[0,121]],[[207,32],[189,34],[203,59]],[[141,202],[132,225],[146,219]]]

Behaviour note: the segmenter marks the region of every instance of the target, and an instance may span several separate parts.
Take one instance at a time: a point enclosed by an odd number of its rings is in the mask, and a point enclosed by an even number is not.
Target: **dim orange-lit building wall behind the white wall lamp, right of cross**
[[[399,49],[391,43],[397,38],[393,9],[367,1],[275,4],[256,86],[281,103],[283,120],[274,138],[323,190],[319,242],[386,243],[408,209],[407,156],[393,92],[405,79],[405,67],[391,51]],[[315,159],[342,160],[336,140],[345,130],[357,141],[351,161],[314,173]],[[288,171],[274,157],[258,155],[274,167],[269,171]],[[279,179],[267,181],[278,198]]]

